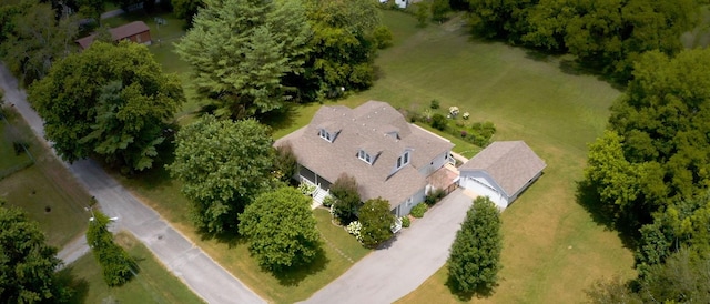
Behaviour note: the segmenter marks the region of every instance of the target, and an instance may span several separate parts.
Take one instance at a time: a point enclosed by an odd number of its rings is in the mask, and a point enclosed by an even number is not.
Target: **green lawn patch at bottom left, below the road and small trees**
[[[109,287],[101,276],[101,267],[89,253],[61,272],[63,277],[70,277],[75,290],[71,303],[204,303],[133,235],[121,232],[115,240],[136,259],[138,276],[123,286]],[[106,302],[109,298],[114,302]]]

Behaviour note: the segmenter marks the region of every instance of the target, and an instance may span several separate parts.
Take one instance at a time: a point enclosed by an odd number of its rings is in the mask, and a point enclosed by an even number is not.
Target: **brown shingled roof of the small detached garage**
[[[524,141],[497,141],[468,160],[458,170],[485,171],[503,190],[517,193],[547,164]]]

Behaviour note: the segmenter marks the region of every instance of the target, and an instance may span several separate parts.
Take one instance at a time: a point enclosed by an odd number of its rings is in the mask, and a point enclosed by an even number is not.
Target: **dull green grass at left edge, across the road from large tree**
[[[39,222],[42,231],[47,233],[49,244],[61,247],[87,229],[89,214],[83,207],[90,195],[51,151],[34,138],[14,111],[6,113],[16,128],[16,136],[29,143],[29,150],[37,162],[0,180],[0,196],[10,205],[23,209],[30,219]],[[2,129],[7,130],[7,126],[0,126],[0,130]],[[11,142],[0,140],[2,150],[8,145],[12,148]],[[3,162],[7,160],[2,156]]]

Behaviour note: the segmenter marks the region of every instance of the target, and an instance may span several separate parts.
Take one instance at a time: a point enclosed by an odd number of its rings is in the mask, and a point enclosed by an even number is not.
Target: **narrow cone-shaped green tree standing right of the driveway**
[[[448,282],[457,292],[487,292],[500,270],[500,214],[488,196],[478,196],[450,249]]]

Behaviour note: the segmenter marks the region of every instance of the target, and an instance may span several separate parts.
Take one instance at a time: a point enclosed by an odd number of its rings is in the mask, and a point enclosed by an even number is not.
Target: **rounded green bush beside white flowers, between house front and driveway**
[[[389,210],[389,202],[383,199],[368,200],[359,209],[358,221],[363,225],[359,234],[363,245],[377,247],[392,237],[392,226],[396,217]]]

